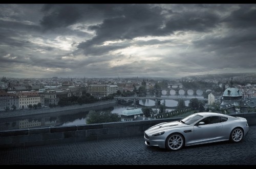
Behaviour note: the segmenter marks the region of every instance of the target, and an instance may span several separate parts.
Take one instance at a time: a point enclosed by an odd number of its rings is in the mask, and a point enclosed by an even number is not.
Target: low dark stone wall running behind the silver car
[[[229,115],[246,118],[249,126],[256,125],[255,112]],[[143,137],[144,131],[153,125],[180,119],[181,118],[167,118],[65,127],[5,130],[0,132],[0,148],[86,142],[133,136]]]

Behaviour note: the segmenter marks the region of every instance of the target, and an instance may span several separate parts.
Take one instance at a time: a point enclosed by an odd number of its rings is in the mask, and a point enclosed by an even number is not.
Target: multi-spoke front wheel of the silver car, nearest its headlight
[[[165,141],[165,147],[170,151],[177,151],[183,148],[185,140],[183,135],[179,133],[171,134],[167,137]]]

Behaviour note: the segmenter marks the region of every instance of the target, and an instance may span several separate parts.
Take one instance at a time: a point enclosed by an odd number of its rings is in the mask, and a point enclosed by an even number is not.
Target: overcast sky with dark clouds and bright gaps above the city
[[[256,4],[0,4],[0,77],[256,72]]]

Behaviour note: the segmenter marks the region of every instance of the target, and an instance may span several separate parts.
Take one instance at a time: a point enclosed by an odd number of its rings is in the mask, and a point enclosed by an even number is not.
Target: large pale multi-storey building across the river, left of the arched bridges
[[[94,97],[105,97],[118,91],[117,85],[89,85],[88,92]]]

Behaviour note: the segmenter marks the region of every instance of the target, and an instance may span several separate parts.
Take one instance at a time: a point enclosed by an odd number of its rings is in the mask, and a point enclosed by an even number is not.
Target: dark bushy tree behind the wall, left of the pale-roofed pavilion
[[[89,111],[87,124],[120,122],[121,116],[111,111]]]

